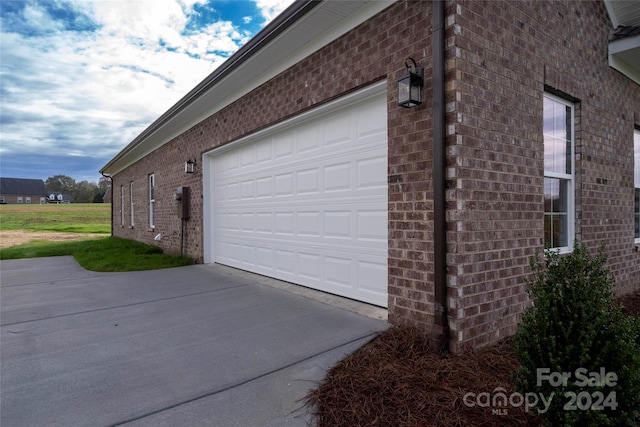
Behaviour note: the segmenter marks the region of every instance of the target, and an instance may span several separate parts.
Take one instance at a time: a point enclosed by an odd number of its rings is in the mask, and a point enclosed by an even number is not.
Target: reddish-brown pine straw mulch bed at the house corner
[[[640,292],[622,302],[626,313],[640,315]],[[305,405],[317,427],[543,426],[524,405],[498,415],[463,401],[467,392],[510,396],[517,368],[508,338],[439,356],[423,331],[396,326],[331,368]]]

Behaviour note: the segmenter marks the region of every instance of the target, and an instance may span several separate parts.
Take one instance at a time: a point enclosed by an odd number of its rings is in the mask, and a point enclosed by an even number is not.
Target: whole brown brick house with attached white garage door
[[[515,331],[545,244],[606,245],[633,291],[637,27],[638,1],[296,2],[103,167],[113,234],[386,306],[452,351]]]

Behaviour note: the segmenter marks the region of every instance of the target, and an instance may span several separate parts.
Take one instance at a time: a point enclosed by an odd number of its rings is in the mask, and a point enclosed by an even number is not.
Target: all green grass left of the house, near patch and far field
[[[95,233],[105,237],[64,242],[31,240],[0,249],[0,260],[71,255],[91,271],[155,270],[193,264],[191,258],[165,255],[157,246],[107,237],[111,232],[110,204],[0,205],[0,231],[15,230]]]

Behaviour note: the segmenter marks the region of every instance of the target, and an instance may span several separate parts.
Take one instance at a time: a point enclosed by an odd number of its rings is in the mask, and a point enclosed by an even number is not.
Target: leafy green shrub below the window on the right
[[[640,322],[616,304],[605,262],[603,250],[592,257],[578,243],[569,255],[547,251],[531,260],[533,305],[514,337],[515,382],[523,396],[553,396],[546,412],[540,403],[531,409],[553,426],[638,425]],[[608,384],[590,374],[603,370]],[[585,377],[601,381],[584,384]]]

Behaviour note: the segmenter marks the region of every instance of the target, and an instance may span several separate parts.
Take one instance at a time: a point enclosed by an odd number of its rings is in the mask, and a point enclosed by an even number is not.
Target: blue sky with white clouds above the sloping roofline
[[[293,0],[0,0],[0,176],[98,170]]]

